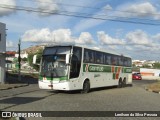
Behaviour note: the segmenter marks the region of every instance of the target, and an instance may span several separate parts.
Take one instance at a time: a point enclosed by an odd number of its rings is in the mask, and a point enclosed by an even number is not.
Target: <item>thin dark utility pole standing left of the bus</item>
[[[21,39],[18,42],[18,80],[21,81]]]

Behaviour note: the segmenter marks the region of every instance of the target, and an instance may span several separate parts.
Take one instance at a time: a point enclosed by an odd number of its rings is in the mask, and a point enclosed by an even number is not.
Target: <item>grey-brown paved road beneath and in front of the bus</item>
[[[160,94],[144,89],[145,85],[153,82],[155,81],[133,81],[132,87],[94,89],[88,94],[80,94],[78,91],[40,90],[37,84],[31,84],[27,87],[0,91],[0,109],[2,111],[160,111]]]

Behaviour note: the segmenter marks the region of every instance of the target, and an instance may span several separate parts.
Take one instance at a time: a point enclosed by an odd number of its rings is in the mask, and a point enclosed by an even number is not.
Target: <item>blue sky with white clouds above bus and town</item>
[[[160,61],[160,0],[1,0],[7,50],[75,44]]]

